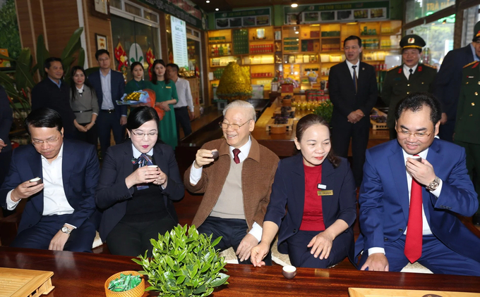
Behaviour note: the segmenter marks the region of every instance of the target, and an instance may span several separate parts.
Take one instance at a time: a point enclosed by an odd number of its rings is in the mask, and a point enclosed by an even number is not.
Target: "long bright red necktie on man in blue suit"
[[[418,155],[414,155],[416,157]],[[412,177],[412,190],[410,191],[410,208],[407,225],[407,238],[405,239],[405,255],[410,263],[421,257],[423,221],[421,217],[421,185]]]

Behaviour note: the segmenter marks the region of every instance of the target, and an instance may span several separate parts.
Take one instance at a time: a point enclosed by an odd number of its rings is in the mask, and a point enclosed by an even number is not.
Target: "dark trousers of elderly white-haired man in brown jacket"
[[[222,219],[221,217],[207,217],[205,222],[203,222],[200,227],[197,228],[198,233],[206,234],[210,236],[212,234],[212,241],[215,241],[218,237],[222,236],[220,242],[215,246],[215,249],[220,249],[220,251],[224,251],[227,248],[234,248],[236,249],[239,247],[239,244],[242,239],[247,234],[248,225],[246,225],[246,220],[239,220],[239,219]],[[252,265],[250,258],[240,262],[239,264],[250,264]],[[263,259],[265,261],[265,265],[272,265],[272,253],[271,251]]]

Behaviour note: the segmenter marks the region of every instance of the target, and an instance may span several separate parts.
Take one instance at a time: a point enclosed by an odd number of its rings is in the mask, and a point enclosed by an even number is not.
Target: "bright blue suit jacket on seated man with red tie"
[[[455,213],[472,216],[479,203],[465,165],[464,148],[434,139],[428,160],[443,181],[437,198],[422,189],[426,219],[432,233],[453,251],[480,262],[480,239],[470,232]],[[407,173],[402,147],[397,139],[366,151],[364,182],[359,194],[361,234],[355,255],[368,248],[383,248],[395,241],[407,227],[409,215]]]

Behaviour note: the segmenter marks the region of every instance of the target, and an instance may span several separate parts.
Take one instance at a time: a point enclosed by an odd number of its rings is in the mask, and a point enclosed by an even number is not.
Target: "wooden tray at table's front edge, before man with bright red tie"
[[[350,297],[479,297],[480,293],[349,288]]]

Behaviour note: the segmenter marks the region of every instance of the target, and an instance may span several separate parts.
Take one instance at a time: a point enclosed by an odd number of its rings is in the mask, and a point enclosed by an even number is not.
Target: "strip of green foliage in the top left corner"
[[[4,6],[0,8],[0,32],[0,48],[8,49],[8,56],[17,59],[20,55],[21,45],[15,0],[6,0]]]

